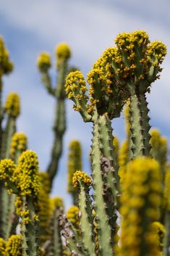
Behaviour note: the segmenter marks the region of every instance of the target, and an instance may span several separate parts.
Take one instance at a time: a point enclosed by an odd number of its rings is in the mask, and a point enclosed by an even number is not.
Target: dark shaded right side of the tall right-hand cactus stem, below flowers
[[[145,94],[137,94],[137,99],[140,102],[139,107],[140,107],[140,125],[141,125],[141,132],[143,135],[143,155],[145,157],[150,156],[150,124],[149,120],[150,117],[148,116],[148,102],[146,99]]]

